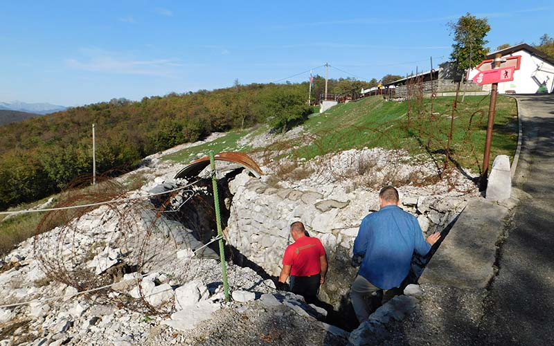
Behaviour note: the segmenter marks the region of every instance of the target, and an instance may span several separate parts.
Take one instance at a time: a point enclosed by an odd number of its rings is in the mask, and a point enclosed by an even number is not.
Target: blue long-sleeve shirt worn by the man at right
[[[364,257],[359,275],[380,289],[400,286],[413,252],[427,255],[429,250],[418,220],[393,205],[364,217],[354,241],[354,255]]]

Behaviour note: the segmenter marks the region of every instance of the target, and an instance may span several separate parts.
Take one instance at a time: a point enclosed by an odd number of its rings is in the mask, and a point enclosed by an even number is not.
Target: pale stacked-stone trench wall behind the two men
[[[289,225],[302,221],[321,239],[329,260],[320,298],[338,308],[348,294],[357,268],[350,266],[359,224],[370,210],[378,210],[378,192],[274,188],[244,172],[229,183],[233,196],[225,230],[229,243],[269,275],[278,276],[285,248],[292,243]],[[415,188],[400,188],[402,208],[418,217],[424,233],[442,230],[467,204],[467,197],[417,196]]]

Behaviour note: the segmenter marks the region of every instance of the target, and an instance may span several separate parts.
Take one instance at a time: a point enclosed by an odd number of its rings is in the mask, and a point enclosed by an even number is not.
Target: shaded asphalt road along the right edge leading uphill
[[[524,140],[515,186],[524,192],[477,343],[554,345],[554,95],[517,98]]]

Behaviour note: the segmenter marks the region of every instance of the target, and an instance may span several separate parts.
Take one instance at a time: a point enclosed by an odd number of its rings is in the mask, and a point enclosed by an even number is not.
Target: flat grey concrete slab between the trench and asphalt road
[[[420,283],[485,288],[494,275],[496,243],[508,209],[485,199],[467,204],[431,258]]]

